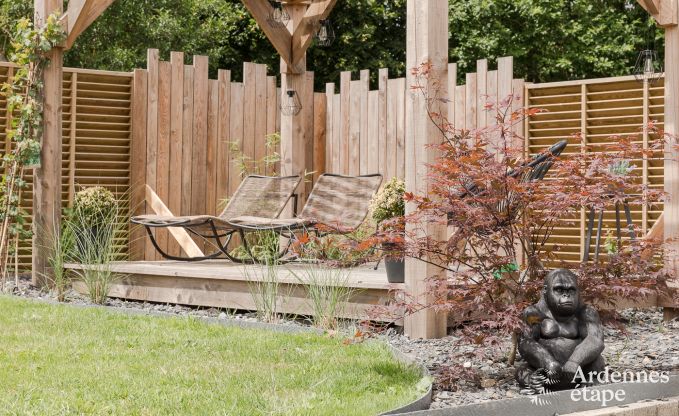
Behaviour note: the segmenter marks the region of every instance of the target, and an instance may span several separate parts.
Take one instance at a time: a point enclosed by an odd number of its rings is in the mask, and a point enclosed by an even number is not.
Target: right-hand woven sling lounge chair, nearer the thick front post
[[[380,174],[343,176],[326,173],[318,178],[304,208],[296,218],[243,215],[231,218],[229,224],[239,230],[245,249],[253,259],[245,239],[247,231],[269,230],[286,237],[292,237],[285,235],[286,233],[292,234],[302,229],[319,234],[348,234],[365,220],[370,200],[381,183]],[[287,252],[291,241],[292,238],[278,257]]]

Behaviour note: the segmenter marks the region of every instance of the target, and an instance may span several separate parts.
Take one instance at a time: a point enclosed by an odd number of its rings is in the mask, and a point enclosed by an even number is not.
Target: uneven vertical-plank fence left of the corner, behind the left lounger
[[[152,213],[144,203],[148,184],[175,215],[219,214],[242,178],[239,153],[252,161],[280,152],[280,146],[266,146],[267,136],[280,131],[281,99],[278,81],[267,75],[266,65],[244,63],[242,81],[232,80],[229,70],[219,70],[215,80],[208,78],[205,56],[194,56],[193,64],[185,65],[181,52],[172,52],[165,62],[150,49],[147,69],[134,71],[134,85],[131,183],[136,213]],[[304,131],[309,132],[306,170],[322,173],[325,94],[313,92],[313,73],[307,73],[300,95]],[[272,174],[279,169],[249,171]],[[167,230],[158,231],[159,245],[181,254]],[[132,259],[159,259],[142,229],[133,229],[130,245]]]

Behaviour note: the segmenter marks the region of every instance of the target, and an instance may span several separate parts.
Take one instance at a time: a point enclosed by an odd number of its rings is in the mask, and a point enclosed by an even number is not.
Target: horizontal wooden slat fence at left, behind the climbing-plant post
[[[0,83],[11,77],[14,67],[0,63]],[[127,203],[130,177],[130,102],[132,75],[122,72],[91,71],[64,68],[63,76],[63,145],[62,145],[62,205],[67,207],[73,195],[82,187],[101,185]],[[0,98],[0,141],[4,151],[10,150],[6,140],[12,114],[7,111],[4,97]],[[29,188],[23,193],[23,207],[32,216],[32,172],[27,172]],[[127,223],[127,213],[119,218]],[[127,245],[127,232],[116,236]],[[19,264],[31,265],[31,239],[19,244]]]

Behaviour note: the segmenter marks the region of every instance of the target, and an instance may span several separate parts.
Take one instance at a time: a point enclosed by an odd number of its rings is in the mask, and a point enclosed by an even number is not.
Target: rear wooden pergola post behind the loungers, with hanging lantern
[[[297,26],[302,21],[307,6],[305,4],[285,4],[285,10],[290,15],[288,21],[288,30],[294,33]],[[290,68],[284,59],[281,59],[281,103],[285,105],[287,98],[287,91],[294,90],[299,97],[300,102],[302,97],[306,96],[306,55],[300,59],[296,67]],[[303,175],[306,167],[305,149],[304,149],[304,120],[307,111],[313,111],[313,108],[307,108],[307,105],[302,102],[302,110],[296,115],[281,114],[281,175]],[[304,191],[304,186],[301,186],[299,192]],[[299,204],[305,201],[305,196],[300,195]],[[290,214],[291,212],[286,212]]]

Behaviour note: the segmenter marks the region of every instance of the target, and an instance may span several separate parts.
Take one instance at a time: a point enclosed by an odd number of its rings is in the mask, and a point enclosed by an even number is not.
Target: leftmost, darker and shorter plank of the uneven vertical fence
[[[130,144],[130,213],[141,215],[146,212],[146,105],[147,72],[134,70],[134,94],[132,95],[132,137]],[[130,260],[144,259],[143,227],[130,225]]]

